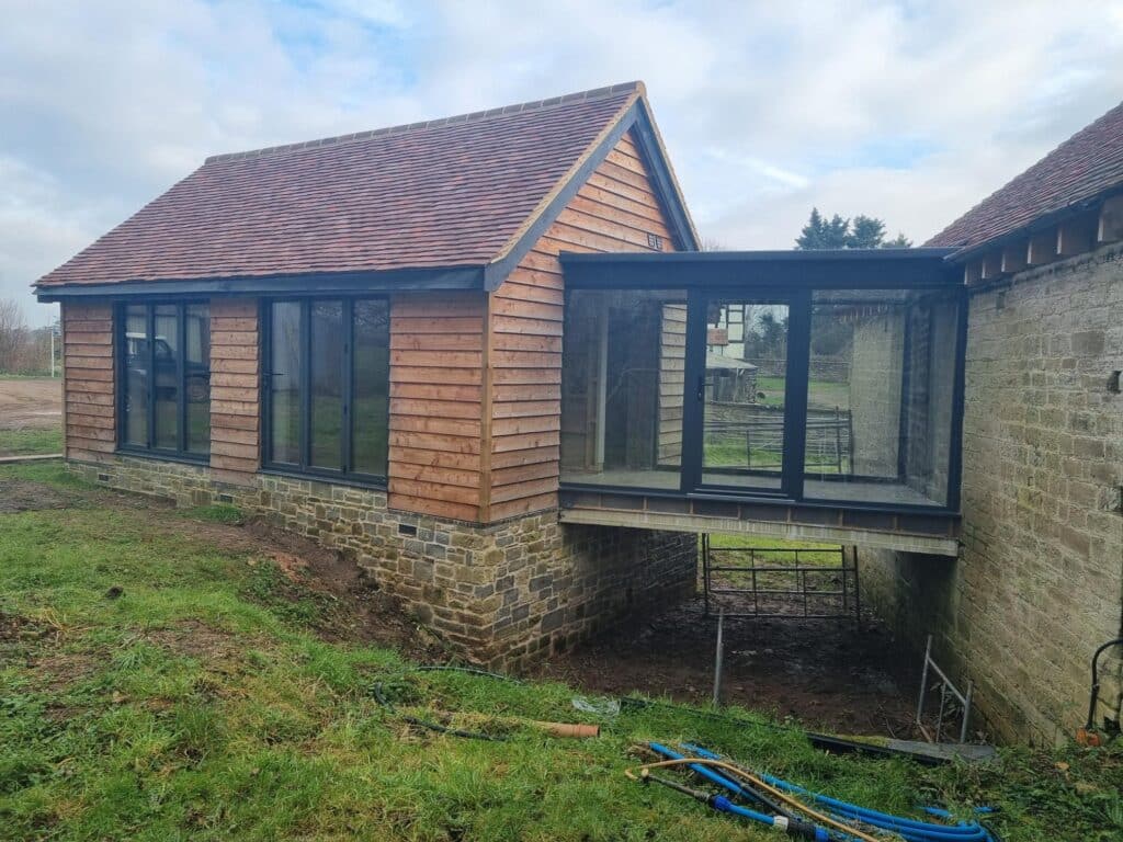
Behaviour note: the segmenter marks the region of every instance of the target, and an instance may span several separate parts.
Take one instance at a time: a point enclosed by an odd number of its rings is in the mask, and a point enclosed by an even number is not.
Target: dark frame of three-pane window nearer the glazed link
[[[343,330],[344,348],[340,360],[343,368],[344,394],[340,406],[340,467],[338,470],[313,466],[311,464],[311,419],[312,419],[312,390],[311,390],[311,313],[312,306],[318,302],[338,301],[343,304]],[[359,301],[382,301],[386,305],[386,315],[390,315],[390,298],[387,295],[301,295],[263,299],[258,310],[259,354],[262,360],[261,374],[261,465],[262,472],[266,474],[280,474],[285,476],[298,476],[326,482],[343,483],[346,485],[357,485],[385,489],[387,475],[390,473],[390,365],[386,366],[386,475],[366,474],[353,470],[350,466],[354,461],[353,438],[355,433],[351,404],[355,394],[355,304]],[[271,460],[273,450],[273,305],[274,304],[299,304],[300,305],[300,439],[298,449],[300,452],[299,463],[279,463]],[[389,333],[389,331],[387,331]],[[389,340],[389,335],[387,335]]]

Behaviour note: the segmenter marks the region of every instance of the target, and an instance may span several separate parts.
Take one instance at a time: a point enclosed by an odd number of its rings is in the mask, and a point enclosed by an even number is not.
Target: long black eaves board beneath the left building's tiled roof
[[[184,295],[262,295],[312,292],[330,295],[341,292],[412,292],[423,290],[482,290],[482,266],[447,268],[389,269],[383,272],[325,272],[302,275],[262,275],[256,277],[209,277],[188,281],[122,281],[106,284],[63,284],[36,287],[40,303],[69,299]]]

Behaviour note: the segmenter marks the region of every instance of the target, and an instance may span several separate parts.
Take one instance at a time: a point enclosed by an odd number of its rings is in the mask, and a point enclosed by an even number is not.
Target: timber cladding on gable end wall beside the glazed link
[[[674,250],[647,167],[627,135],[492,294],[484,521],[557,506],[564,313],[558,254],[647,251],[648,234],[661,238],[663,250]]]

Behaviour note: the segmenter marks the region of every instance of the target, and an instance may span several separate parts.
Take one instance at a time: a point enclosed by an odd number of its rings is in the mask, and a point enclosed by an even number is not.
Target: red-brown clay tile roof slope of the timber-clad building
[[[632,82],[216,155],[38,286],[484,266],[642,95]]]

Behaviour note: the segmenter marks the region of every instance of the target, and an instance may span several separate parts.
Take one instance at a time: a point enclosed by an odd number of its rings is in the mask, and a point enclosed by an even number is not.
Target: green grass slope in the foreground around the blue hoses
[[[1119,839],[1123,752],[1004,751],[925,769],[830,757],[798,730],[737,711],[624,711],[593,741],[511,729],[582,721],[575,690],[418,674],[395,651],[325,642],[335,610],[272,562],[223,550],[229,507],[133,509],[56,464],[0,481],[82,504],[0,514],[0,827],[6,840],[766,840],[623,777],[639,741],[691,739],[871,807],[959,815],[989,803],[1008,840]],[[418,732],[399,713],[474,712],[478,742]]]

